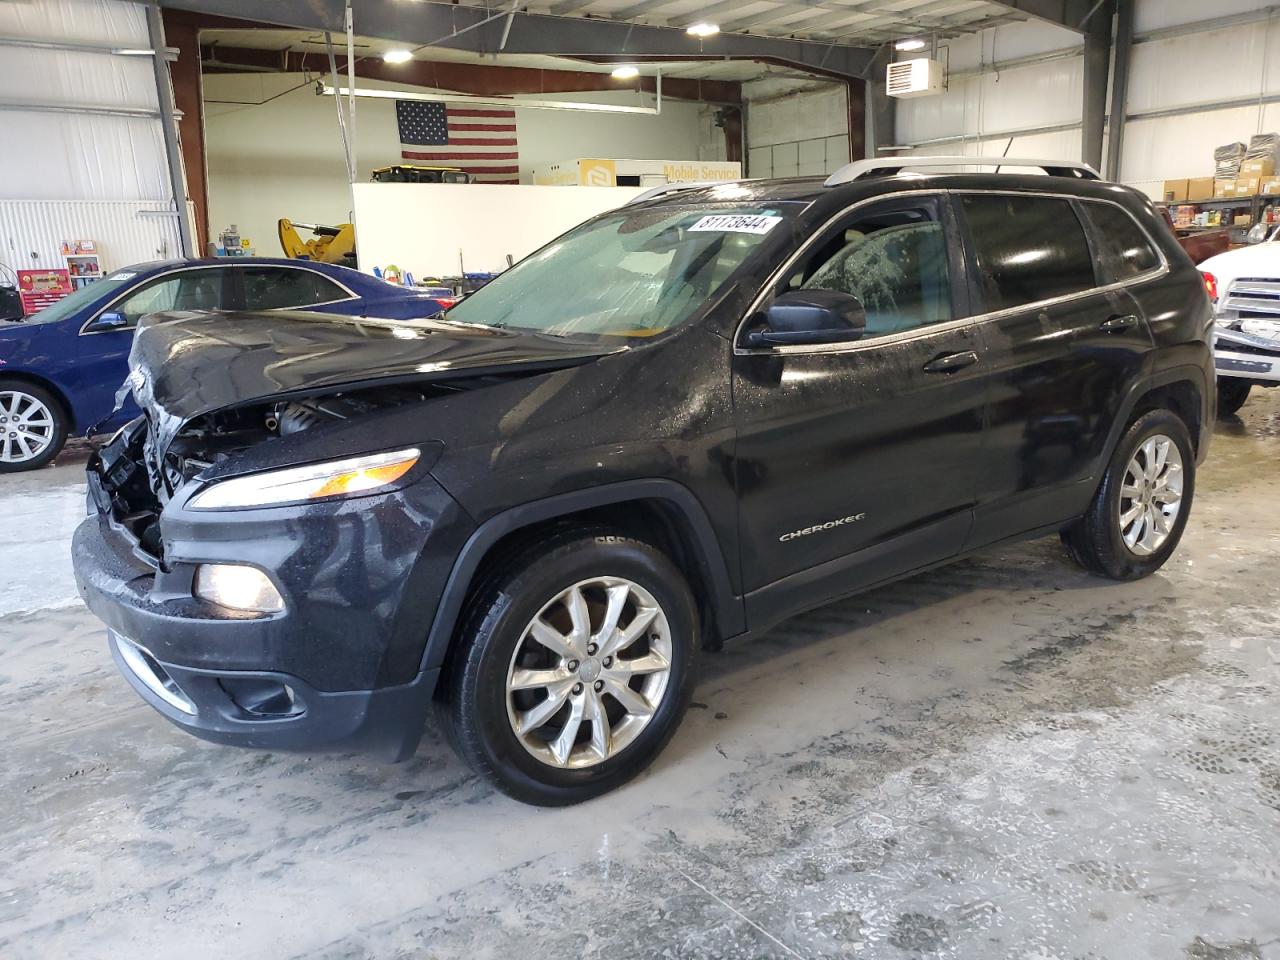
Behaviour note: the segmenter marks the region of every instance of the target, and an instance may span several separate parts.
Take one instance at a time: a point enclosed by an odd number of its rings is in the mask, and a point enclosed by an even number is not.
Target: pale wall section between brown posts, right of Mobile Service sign
[[[844,83],[765,78],[742,84],[746,175],[815,177],[849,163]]]

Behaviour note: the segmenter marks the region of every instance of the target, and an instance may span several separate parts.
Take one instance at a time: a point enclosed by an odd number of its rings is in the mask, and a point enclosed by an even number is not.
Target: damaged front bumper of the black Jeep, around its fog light
[[[412,755],[439,678],[421,664],[438,568],[471,529],[430,477],[287,515],[166,512],[161,563],[113,520],[92,467],[76,580],[147,703],[219,744]],[[197,599],[192,581],[206,562],[266,571],[285,611],[237,613]]]

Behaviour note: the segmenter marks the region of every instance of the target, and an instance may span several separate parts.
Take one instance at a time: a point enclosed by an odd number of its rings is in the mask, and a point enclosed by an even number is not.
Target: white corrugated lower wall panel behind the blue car
[[[0,200],[0,262],[14,270],[61,266],[63,241],[99,243],[102,266],[116,270],[180,256],[178,221],[156,201]]]

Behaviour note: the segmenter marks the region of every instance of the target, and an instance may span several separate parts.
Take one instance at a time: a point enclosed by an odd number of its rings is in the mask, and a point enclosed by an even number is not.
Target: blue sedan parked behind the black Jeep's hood
[[[116,270],[0,324],[0,474],[41,467],[68,436],[114,430],[138,415],[132,398],[115,410],[115,394],[145,314],[291,308],[411,320],[453,305],[436,293],[306,260],[170,260]]]

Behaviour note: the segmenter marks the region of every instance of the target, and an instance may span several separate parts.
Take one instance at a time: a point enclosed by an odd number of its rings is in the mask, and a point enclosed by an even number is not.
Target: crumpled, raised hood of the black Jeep
[[[138,324],[122,399],[133,390],[163,451],[183,424],[216,410],[374,383],[554,370],[614,349],[444,320],[172,311]]]

